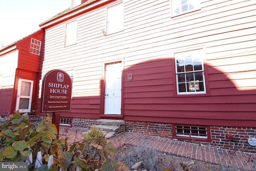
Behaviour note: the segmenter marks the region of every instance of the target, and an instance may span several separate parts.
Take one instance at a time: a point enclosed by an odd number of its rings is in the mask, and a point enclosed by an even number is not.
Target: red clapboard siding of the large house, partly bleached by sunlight
[[[69,20],[78,21],[75,45],[64,47],[69,21],[46,29],[42,77],[75,70],[72,110],[64,117],[100,118],[102,65],[122,59],[125,120],[255,126],[255,2],[204,0],[201,10],[175,17],[169,0],[123,2],[122,32],[102,33],[110,4]],[[194,49],[204,52],[207,92],[177,95],[174,54]]]

